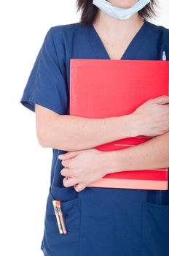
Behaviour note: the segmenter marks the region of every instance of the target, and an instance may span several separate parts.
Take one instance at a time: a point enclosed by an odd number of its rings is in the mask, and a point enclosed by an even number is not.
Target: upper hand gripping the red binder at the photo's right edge
[[[162,135],[169,131],[169,96],[149,99],[131,115],[137,120],[137,134],[152,137]]]

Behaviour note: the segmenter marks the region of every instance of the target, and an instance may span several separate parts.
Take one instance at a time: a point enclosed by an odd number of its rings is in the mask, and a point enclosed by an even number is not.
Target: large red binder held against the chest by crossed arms
[[[73,116],[123,116],[133,113],[148,99],[169,95],[169,61],[71,59],[70,64],[70,115]],[[125,138],[95,148],[120,150],[149,139]],[[166,190],[168,167],[110,173],[87,187]]]

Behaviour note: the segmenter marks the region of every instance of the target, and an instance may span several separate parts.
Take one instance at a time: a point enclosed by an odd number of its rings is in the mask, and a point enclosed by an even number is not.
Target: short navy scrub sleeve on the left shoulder
[[[57,40],[57,34],[55,34]],[[31,74],[23,91],[20,103],[35,111],[35,103],[59,113],[68,109],[68,89],[63,56],[63,45],[58,34],[54,42],[52,27],[47,31]]]

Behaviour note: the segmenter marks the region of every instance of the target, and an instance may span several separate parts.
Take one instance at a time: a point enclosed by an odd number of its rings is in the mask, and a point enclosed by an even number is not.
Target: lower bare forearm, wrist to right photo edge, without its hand
[[[169,167],[169,132],[139,145],[106,152],[109,173]]]

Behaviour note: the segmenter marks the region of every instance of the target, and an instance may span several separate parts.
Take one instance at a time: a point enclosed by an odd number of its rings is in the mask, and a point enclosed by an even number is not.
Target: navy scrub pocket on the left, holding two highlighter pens
[[[61,201],[67,234],[60,234],[52,200]],[[78,256],[80,199],[74,187],[56,187],[52,184],[47,197],[44,236],[41,249],[45,256]]]

